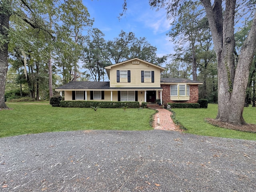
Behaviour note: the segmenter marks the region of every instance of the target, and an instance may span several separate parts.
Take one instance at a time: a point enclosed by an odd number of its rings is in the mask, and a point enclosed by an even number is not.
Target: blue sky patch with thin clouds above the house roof
[[[83,0],[91,18],[94,18],[94,28],[105,34],[106,40],[118,37],[121,30],[134,32],[137,38],[146,37],[147,41],[157,48],[157,56],[173,52],[173,44],[166,33],[170,30],[170,22],[166,20],[164,9],[152,10],[148,0],[128,0],[127,11],[121,20],[123,0]]]

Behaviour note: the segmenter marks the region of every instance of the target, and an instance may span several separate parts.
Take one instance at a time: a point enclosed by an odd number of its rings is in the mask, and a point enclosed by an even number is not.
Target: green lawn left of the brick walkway
[[[43,102],[8,103],[0,110],[0,137],[71,130],[152,130],[155,110],[60,108]]]

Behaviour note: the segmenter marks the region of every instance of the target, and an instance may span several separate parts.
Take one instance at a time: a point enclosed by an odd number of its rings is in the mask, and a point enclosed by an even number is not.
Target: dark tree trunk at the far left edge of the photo
[[[0,6],[0,34],[4,37],[3,44],[0,44],[0,109],[9,109],[4,101],[6,75],[8,70],[8,29],[10,20],[11,5],[9,0],[4,0]]]

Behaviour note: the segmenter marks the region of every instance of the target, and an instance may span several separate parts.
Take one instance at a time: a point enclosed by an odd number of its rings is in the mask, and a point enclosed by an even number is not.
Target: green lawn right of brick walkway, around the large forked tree
[[[222,138],[237,138],[245,140],[256,140],[256,133],[248,133],[237,130],[229,130],[208,124],[204,118],[216,118],[218,112],[217,104],[208,104],[207,109],[172,109],[176,113],[176,119],[188,130],[186,133],[214,136]],[[250,124],[256,124],[256,108],[244,108],[244,120]]]

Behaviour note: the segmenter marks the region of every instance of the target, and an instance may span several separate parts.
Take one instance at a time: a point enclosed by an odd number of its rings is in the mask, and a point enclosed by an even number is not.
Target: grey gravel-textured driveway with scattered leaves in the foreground
[[[255,192],[256,141],[174,131],[0,138],[0,191]]]

